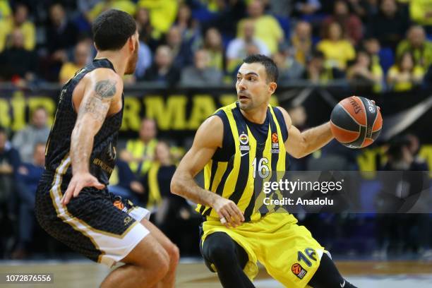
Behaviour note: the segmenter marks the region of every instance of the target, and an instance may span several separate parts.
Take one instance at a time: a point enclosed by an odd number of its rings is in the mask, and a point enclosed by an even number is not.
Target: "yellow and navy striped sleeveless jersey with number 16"
[[[214,115],[222,119],[224,138],[222,148],[204,167],[204,188],[236,203],[246,221],[258,220],[271,212],[263,205],[263,181],[268,177],[272,181],[276,172],[288,169],[284,147],[288,131],[282,112],[269,105],[264,123],[254,124],[241,114],[235,102]],[[219,218],[205,205],[198,204],[196,211],[205,219]]]

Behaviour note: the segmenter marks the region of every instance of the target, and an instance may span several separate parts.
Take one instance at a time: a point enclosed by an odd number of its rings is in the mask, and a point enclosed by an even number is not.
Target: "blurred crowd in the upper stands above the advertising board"
[[[432,83],[432,0],[0,0],[0,80],[65,83],[95,56],[91,23],[116,8],[140,32],[126,83],[232,83],[248,54],[280,81],[340,80],[369,90]]]

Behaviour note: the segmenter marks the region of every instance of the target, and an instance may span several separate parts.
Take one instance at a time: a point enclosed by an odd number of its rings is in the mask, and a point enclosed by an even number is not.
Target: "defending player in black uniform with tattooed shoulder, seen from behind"
[[[136,22],[109,10],[92,25],[97,55],[61,90],[36,196],[40,225],[98,263],[116,268],[101,287],[174,287],[179,250],[149,212],[107,191],[123,113],[124,74],[138,58]]]

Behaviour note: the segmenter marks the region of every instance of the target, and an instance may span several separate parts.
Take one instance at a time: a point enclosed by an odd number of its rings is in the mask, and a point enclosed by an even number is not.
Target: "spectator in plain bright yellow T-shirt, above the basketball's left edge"
[[[325,55],[325,65],[344,70],[347,62],[353,60],[356,52],[351,42],[344,39],[342,27],[333,22],[328,26],[325,39],[317,44],[317,49]]]

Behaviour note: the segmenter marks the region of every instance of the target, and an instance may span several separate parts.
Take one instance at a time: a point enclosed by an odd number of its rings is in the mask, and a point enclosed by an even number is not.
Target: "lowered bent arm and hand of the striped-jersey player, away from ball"
[[[225,226],[236,227],[244,221],[244,216],[237,205],[207,191],[193,179],[212,158],[218,147],[222,147],[224,126],[222,119],[211,116],[201,124],[196,132],[191,150],[184,155],[171,181],[171,192],[195,203],[212,207],[217,215],[227,220]]]

